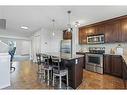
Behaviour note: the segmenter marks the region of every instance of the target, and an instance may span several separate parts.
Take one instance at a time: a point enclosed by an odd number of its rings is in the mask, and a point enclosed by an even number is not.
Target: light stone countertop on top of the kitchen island
[[[49,56],[56,56],[56,57],[66,59],[66,60],[71,60],[71,59],[83,57],[83,55],[68,54],[68,53],[61,53],[61,52],[46,52],[45,54],[47,54]]]

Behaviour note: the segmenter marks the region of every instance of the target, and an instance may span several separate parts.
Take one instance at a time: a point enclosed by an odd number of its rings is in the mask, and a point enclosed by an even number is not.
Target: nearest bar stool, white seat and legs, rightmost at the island
[[[61,69],[60,59],[57,57],[52,57],[53,63],[53,86],[55,83],[55,77],[59,77],[59,87],[62,85],[62,77],[66,76],[66,86],[68,87],[68,69]]]

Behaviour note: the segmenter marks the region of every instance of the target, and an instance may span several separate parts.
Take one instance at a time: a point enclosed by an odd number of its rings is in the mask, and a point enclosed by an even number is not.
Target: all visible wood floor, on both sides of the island
[[[37,80],[37,65],[30,62],[15,62],[16,71],[11,74],[11,86],[5,89],[54,89]],[[120,78],[101,75],[94,72],[83,72],[83,82],[77,89],[124,89]]]

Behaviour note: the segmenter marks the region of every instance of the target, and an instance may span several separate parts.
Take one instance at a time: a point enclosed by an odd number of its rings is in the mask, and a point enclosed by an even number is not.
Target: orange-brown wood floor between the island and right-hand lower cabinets
[[[124,89],[123,80],[114,76],[84,71],[83,78],[78,89]]]

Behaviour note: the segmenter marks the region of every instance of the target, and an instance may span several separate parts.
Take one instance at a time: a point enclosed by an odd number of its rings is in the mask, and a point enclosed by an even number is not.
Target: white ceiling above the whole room
[[[127,6],[0,6],[0,18],[7,19],[9,32],[30,36],[41,27],[51,29],[52,19],[56,20],[57,29],[65,29],[68,10],[72,11],[71,23],[79,21],[81,26],[127,15]]]

